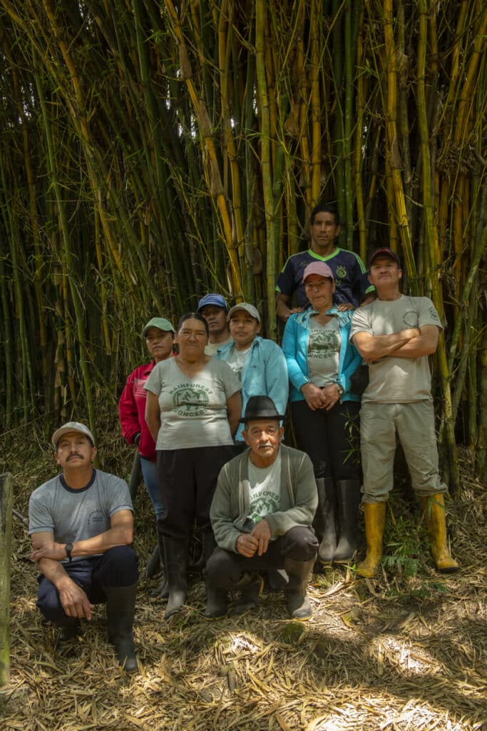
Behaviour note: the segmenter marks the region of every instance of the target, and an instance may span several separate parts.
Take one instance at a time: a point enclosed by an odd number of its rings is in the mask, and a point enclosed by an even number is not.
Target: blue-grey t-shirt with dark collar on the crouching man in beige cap
[[[69,488],[58,474],[31,494],[28,534],[53,531],[56,543],[83,541],[109,530],[110,518],[120,510],[134,509],[127,483],[115,474],[93,469],[90,482],[81,490]],[[72,560],[81,558],[85,556]]]

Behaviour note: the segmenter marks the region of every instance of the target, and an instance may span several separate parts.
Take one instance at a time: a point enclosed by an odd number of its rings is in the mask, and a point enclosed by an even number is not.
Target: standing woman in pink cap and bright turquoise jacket
[[[283,336],[294,433],[315,470],[318,556],[323,563],[347,561],[358,545],[360,397],[350,376],[361,356],[349,343],[352,312],[333,305],[329,266],[312,262],[302,281],[311,307],[289,317]]]

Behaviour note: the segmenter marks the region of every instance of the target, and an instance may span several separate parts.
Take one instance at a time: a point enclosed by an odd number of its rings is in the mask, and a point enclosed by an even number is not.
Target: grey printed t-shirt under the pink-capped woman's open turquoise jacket
[[[307,361],[310,381],[315,386],[329,386],[337,380],[341,344],[337,317],[332,317],[326,325],[320,325],[315,317],[310,318]]]

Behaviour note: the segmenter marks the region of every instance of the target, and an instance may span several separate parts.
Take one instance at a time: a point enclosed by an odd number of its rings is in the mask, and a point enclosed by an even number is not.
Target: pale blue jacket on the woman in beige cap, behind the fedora
[[[215,354],[218,360],[229,360],[235,349],[234,343],[219,348]],[[275,403],[277,413],[285,414],[288,404],[288,368],[283,351],[272,340],[256,336],[250,346],[247,362],[242,371],[242,415],[250,396],[269,396]],[[243,442],[243,424],[239,424],[235,442]]]

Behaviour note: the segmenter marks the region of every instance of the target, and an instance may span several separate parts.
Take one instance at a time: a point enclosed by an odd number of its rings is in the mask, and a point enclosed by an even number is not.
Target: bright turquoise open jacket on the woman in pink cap
[[[304,395],[302,395],[300,389],[305,383],[310,383],[311,380],[309,378],[307,346],[310,339],[310,318],[315,314],[318,314],[318,312],[308,308],[304,312],[291,315],[285,324],[283,351],[288,364],[289,380],[291,381],[291,401],[304,400]],[[340,312],[334,307],[327,314],[335,315],[340,320],[339,329],[342,346],[340,347],[337,382],[344,392],[340,401],[360,401],[360,396],[350,391],[350,376],[355,373],[362,360],[356,347],[348,341],[353,311]]]

